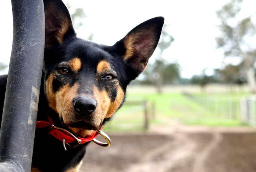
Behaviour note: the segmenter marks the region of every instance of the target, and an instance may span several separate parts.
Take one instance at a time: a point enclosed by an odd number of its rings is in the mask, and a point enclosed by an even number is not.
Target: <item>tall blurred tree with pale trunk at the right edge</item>
[[[256,60],[256,50],[255,47],[250,46],[247,38],[255,35],[256,28],[251,21],[254,14],[242,20],[237,17],[241,11],[242,2],[243,0],[231,0],[216,12],[221,21],[219,29],[222,32],[222,35],[216,38],[216,42],[218,48],[224,49],[225,57],[240,57],[242,59],[239,70],[246,74],[250,92],[255,93],[256,80],[253,65]]]

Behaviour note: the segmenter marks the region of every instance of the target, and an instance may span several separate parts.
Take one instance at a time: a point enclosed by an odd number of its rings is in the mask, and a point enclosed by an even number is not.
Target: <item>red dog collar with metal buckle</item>
[[[63,128],[59,128],[51,124],[50,122],[47,121],[37,121],[36,123],[37,128],[47,128],[49,129],[49,134],[51,134],[53,137],[55,137],[58,140],[63,141],[63,147],[66,150],[65,143],[68,144],[69,146],[75,147],[80,144],[84,144],[87,142],[92,141],[94,138],[98,136],[98,132],[95,131],[95,133],[82,138],[82,137],[76,137],[69,131],[66,131]],[[103,126],[101,126],[102,128]],[[99,130],[101,130],[101,128]]]

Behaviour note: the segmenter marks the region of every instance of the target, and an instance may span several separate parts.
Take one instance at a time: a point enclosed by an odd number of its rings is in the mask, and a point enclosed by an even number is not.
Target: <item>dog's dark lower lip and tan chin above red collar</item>
[[[68,128],[78,137],[86,137],[93,134],[98,127],[91,125],[85,121],[78,121],[68,126]]]

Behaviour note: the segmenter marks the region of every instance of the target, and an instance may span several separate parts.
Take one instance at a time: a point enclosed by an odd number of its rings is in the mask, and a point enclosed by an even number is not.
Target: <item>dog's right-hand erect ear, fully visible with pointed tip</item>
[[[163,17],[147,20],[114,45],[123,56],[130,80],[135,79],[146,68],[149,57],[158,44],[163,24]]]

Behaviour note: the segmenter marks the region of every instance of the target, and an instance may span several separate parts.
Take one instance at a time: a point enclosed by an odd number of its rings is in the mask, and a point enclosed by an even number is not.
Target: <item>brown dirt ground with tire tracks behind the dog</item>
[[[249,127],[158,127],[110,137],[109,148],[88,146],[81,171],[256,171],[256,132]]]

